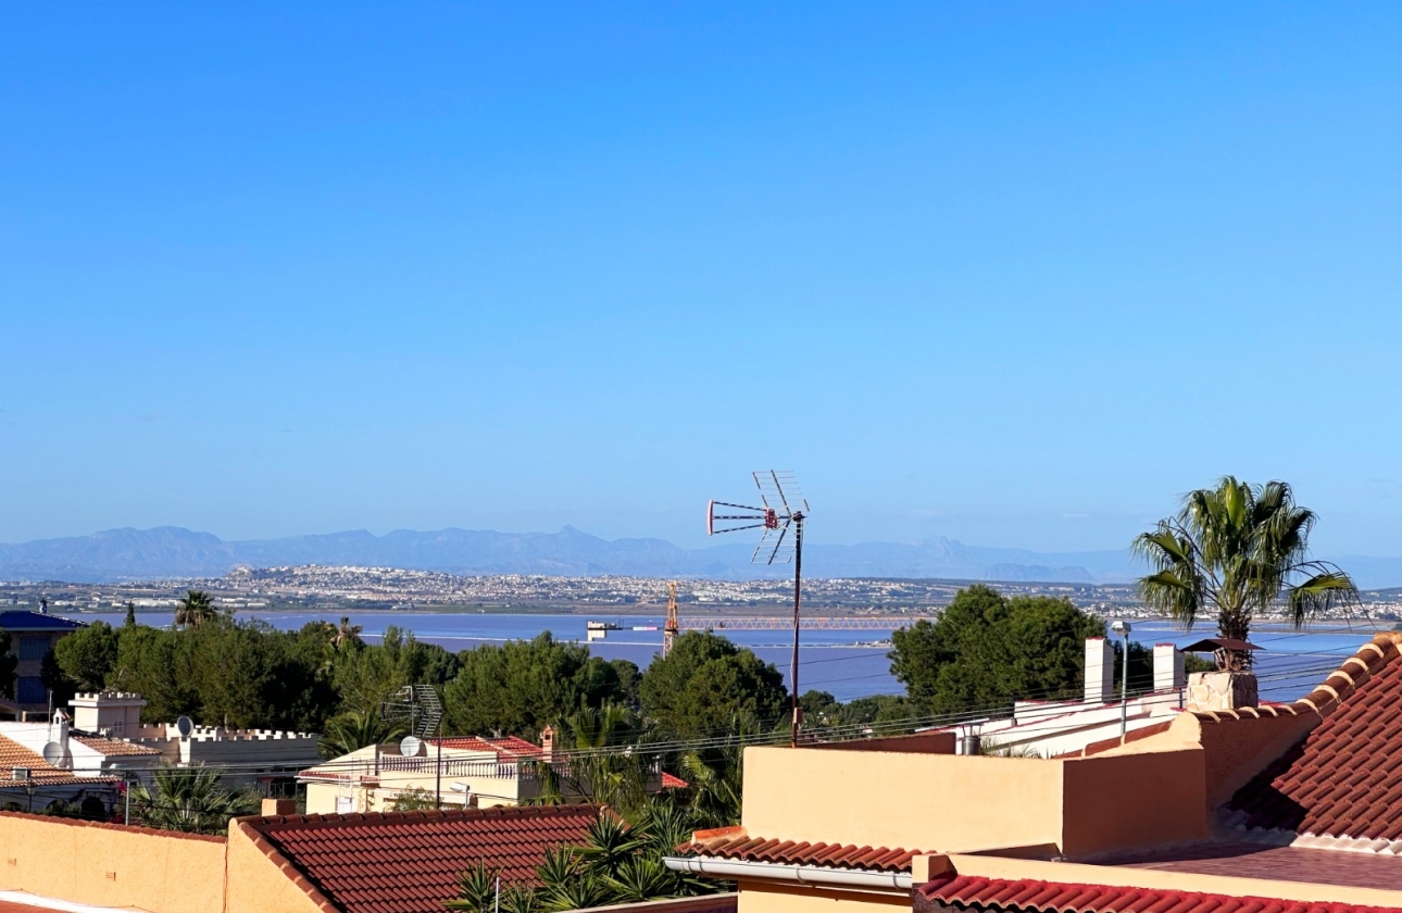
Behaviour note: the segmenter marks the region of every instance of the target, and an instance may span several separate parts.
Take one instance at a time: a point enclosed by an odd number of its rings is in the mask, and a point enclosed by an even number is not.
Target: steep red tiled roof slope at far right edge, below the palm
[[[1380,634],[1297,704],[1326,712],[1227,808],[1248,827],[1402,839],[1402,635]]]

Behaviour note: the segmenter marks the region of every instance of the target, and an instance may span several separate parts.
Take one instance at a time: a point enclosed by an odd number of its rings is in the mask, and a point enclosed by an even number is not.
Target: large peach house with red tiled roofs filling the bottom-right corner
[[[742,825],[667,864],[740,913],[1402,910],[1399,647],[1063,757],[750,748]]]

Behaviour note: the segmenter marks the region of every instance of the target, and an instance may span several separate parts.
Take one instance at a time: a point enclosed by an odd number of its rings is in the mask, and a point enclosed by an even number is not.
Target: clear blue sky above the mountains
[[[1402,7],[0,10],[0,541],[1402,554]]]

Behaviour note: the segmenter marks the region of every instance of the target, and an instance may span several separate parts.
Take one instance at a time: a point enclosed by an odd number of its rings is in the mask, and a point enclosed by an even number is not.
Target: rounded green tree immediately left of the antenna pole
[[[693,738],[723,729],[740,712],[775,719],[788,691],[773,663],[711,631],[686,631],[642,673],[638,698],[667,733]]]

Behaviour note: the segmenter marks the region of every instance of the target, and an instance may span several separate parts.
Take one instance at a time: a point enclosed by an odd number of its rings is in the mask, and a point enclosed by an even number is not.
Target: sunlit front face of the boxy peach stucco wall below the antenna
[[[764,837],[927,851],[1060,844],[1061,762],[747,748],[742,823]]]

